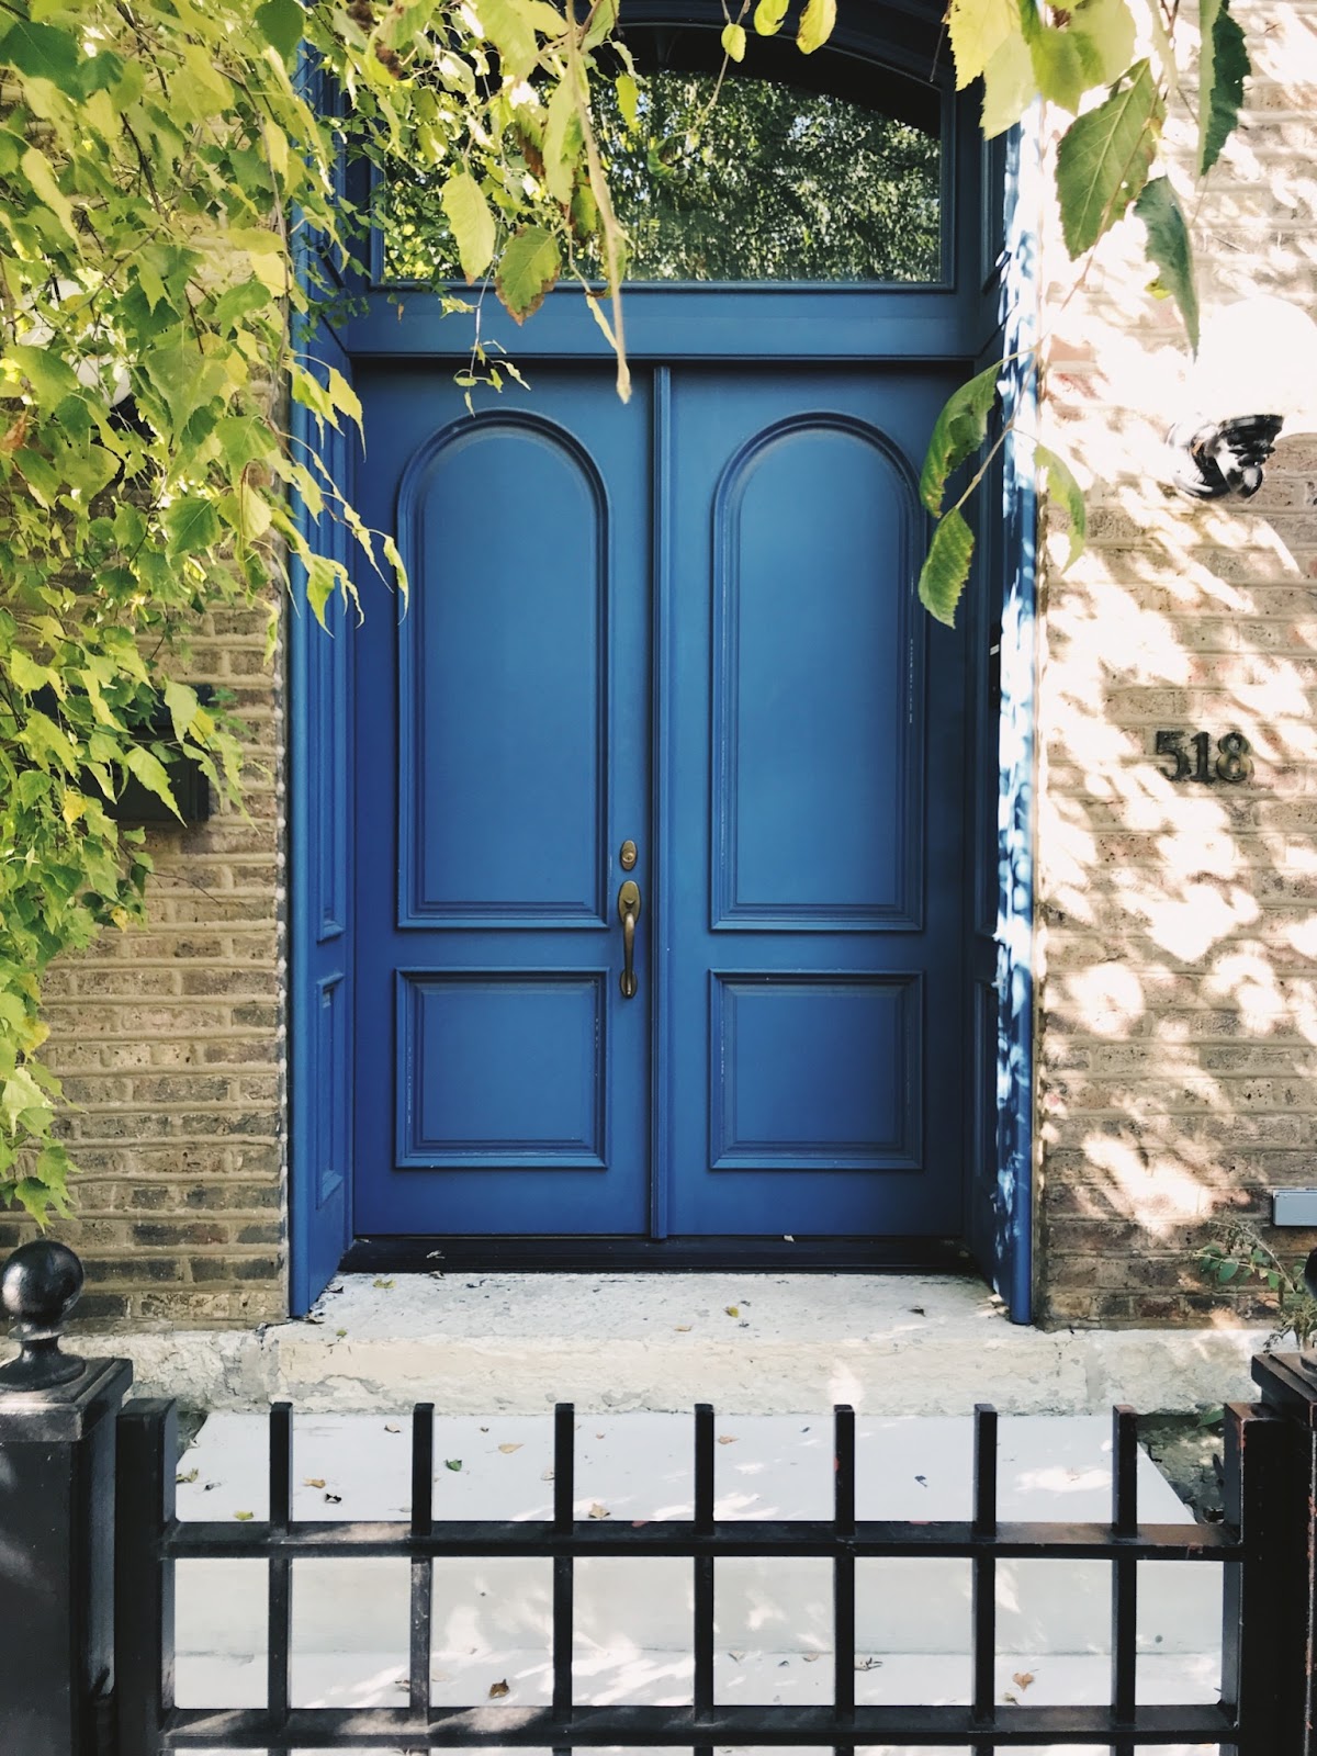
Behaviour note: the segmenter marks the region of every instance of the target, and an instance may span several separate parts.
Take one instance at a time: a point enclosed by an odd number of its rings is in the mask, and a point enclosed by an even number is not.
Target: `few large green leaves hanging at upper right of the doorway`
[[[1055,153],[1061,230],[1073,260],[1085,256],[1120,220],[1143,221],[1152,290],[1173,299],[1189,346],[1198,351],[1198,290],[1189,225],[1171,177],[1157,170],[1162,126],[1180,88],[1177,56],[1198,51],[1198,153],[1203,177],[1234,132],[1249,76],[1249,51],[1231,0],[1205,0],[1192,32],[1178,0],[1078,0],[1073,7],[1038,0],[950,0],[946,12],[955,83],[982,81],[982,125],[992,139],[1013,126],[1038,98],[1075,119]],[[957,390],[938,421],[924,465],[922,495],[936,525],[918,594],[939,622],[954,623],[969,579],[975,536],[964,506],[987,465],[948,504],[955,471],[976,458],[1001,395],[1008,363],[999,362]],[[1004,443],[999,423],[989,458]],[[1083,499],[1069,467],[1036,448],[1052,499],[1071,532],[1073,560],[1083,548]]]

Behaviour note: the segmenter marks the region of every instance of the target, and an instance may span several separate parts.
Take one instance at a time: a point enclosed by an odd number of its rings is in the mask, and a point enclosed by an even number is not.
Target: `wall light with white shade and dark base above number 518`
[[[1169,483],[1192,500],[1250,500],[1280,428],[1317,404],[1317,323],[1285,299],[1245,299],[1203,325],[1194,411],[1166,435]]]

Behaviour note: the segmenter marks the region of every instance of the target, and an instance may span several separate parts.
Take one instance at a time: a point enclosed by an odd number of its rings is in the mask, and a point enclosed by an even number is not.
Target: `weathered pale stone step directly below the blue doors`
[[[734,1315],[732,1315],[734,1313]],[[536,1414],[590,1408],[890,1415],[1192,1410],[1249,1400],[1263,1331],[1011,1324],[946,1275],[348,1275],[309,1319],[262,1329],[81,1335],[144,1394],[191,1408]]]

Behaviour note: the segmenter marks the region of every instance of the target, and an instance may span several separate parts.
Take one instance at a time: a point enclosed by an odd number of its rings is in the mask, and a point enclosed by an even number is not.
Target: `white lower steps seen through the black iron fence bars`
[[[718,1517],[831,1514],[831,1414],[729,1414],[720,1415],[716,1433]],[[402,1403],[393,1414],[306,1415],[295,1419],[293,1435],[295,1517],[406,1519],[411,1447]],[[578,1517],[690,1517],[690,1452],[688,1415],[583,1410]],[[969,1517],[971,1454],[968,1414],[915,1419],[860,1414],[859,1517]],[[211,1415],[179,1465],[179,1515],[263,1517],[265,1456],[262,1415]],[[548,1517],[551,1457],[546,1412],[437,1415],[435,1517]],[[1110,1517],[1110,1419],[1003,1419],[999,1512],[1003,1519]],[[1147,1456],[1140,1457],[1140,1515],[1192,1522]],[[550,1605],[548,1561],[437,1563],[434,1702],[474,1705],[490,1700],[492,1689],[500,1698],[506,1684],[513,1705],[546,1703]],[[260,1561],[179,1565],[179,1705],[260,1705],[263,1628]],[[1108,1700],[1108,1628],[1106,1565],[1001,1563],[999,1698]],[[1138,1628],[1141,1700],[1217,1700],[1217,1568],[1143,1563]],[[718,1700],[829,1700],[831,1630],[825,1561],[716,1563]],[[404,1561],[293,1563],[295,1705],[402,1705],[406,1652]],[[966,1702],[968,1654],[968,1563],[857,1565],[860,1702]],[[576,1698],[581,1703],[690,1700],[688,1561],[578,1563]],[[1177,1749],[1187,1756],[1187,1747]],[[904,1752],[892,1749],[890,1756]],[[1059,1747],[1054,1756],[1062,1756]]]

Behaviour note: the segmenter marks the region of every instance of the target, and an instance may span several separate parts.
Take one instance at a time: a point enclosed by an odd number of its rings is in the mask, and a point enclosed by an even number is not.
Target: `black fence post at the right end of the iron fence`
[[[1263,1407],[1284,1417],[1289,1436],[1282,1487],[1287,1540],[1275,1556],[1287,1573],[1280,1587],[1285,1675],[1273,1749],[1277,1756],[1317,1756],[1317,1373],[1298,1354],[1256,1354],[1252,1375]]]

